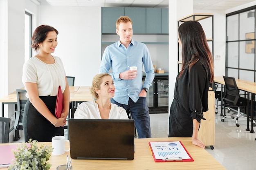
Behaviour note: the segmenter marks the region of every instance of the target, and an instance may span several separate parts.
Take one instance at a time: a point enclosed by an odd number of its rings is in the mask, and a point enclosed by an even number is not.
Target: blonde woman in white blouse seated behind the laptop
[[[75,119],[128,119],[124,108],[110,103],[115,95],[115,86],[108,73],[95,75],[90,92],[95,100],[79,104],[74,113]]]

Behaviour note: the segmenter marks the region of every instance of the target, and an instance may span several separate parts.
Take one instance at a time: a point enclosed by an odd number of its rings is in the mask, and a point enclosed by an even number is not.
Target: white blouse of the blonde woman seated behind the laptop
[[[75,119],[101,119],[98,104],[95,101],[83,102],[79,104],[74,113]],[[108,119],[128,119],[124,108],[111,103]]]

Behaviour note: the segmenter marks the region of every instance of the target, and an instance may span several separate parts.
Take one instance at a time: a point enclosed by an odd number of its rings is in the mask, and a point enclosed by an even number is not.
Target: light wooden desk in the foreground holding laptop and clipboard
[[[123,160],[78,160],[72,159],[73,170],[226,170],[216,159],[214,159],[205,149],[192,144],[191,137],[166,137],[135,139],[135,155],[132,161]],[[182,144],[194,159],[193,162],[155,162],[148,148],[149,141],[182,141]],[[41,145],[42,143],[38,143]],[[51,145],[51,142],[45,142]],[[4,144],[0,144],[4,145]],[[66,163],[66,152],[60,156],[52,155],[49,163],[52,164],[50,170]],[[3,168],[7,170],[7,168]]]

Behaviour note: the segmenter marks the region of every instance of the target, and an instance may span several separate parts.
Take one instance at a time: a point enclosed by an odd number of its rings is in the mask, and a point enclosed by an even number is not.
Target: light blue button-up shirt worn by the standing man
[[[120,79],[119,74],[130,70],[130,66],[137,66],[137,77],[132,80]],[[146,73],[144,83],[142,82],[143,66]],[[128,104],[129,97],[133,102],[139,99],[139,93],[143,87],[149,88],[155,77],[150,53],[145,44],[131,41],[126,48],[120,40],[107,46],[101,60],[100,73],[112,72],[116,88],[113,99],[120,104]]]

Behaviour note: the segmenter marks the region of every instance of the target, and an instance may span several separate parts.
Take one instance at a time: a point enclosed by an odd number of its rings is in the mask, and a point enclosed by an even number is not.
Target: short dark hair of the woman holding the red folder
[[[58,35],[58,31],[49,25],[40,25],[38,26],[31,38],[32,44],[31,48],[33,48],[35,51],[38,51],[39,45],[38,43],[42,43],[46,39],[46,35],[49,31],[55,31],[56,34]]]

